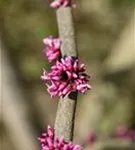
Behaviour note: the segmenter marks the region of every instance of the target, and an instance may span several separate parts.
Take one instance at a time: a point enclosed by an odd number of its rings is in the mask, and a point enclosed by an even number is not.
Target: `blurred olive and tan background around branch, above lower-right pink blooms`
[[[77,45],[92,90],[79,95],[75,142],[91,131],[135,128],[135,0],[76,0]],[[1,150],[39,150],[37,137],[54,126],[58,100],[40,80],[50,65],[43,38],[58,36],[49,0],[0,1]]]

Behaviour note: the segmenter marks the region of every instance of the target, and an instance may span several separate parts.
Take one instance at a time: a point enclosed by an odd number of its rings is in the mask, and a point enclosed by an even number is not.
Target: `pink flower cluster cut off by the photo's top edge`
[[[72,0],[53,0],[50,6],[53,8],[72,6]]]

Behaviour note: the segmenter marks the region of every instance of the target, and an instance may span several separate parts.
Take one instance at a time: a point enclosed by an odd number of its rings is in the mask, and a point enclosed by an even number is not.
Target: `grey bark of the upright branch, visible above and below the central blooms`
[[[75,31],[73,25],[72,9],[70,7],[57,10],[57,21],[60,39],[62,40],[62,56],[77,57]],[[71,93],[60,99],[55,121],[56,136],[64,136],[66,141],[73,139],[77,93]]]

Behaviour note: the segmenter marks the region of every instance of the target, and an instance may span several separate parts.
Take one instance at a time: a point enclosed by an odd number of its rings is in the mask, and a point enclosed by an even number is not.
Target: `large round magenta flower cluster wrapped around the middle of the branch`
[[[64,97],[76,91],[85,93],[91,89],[88,83],[90,77],[84,73],[85,70],[85,65],[78,59],[65,57],[57,61],[49,73],[44,70],[41,79],[45,81],[51,96]]]

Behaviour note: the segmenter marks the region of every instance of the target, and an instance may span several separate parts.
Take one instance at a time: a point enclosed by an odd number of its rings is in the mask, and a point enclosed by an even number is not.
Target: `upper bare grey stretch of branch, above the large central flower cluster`
[[[59,8],[57,10],[57,22],[60,39],[62,40],[62,55],[77,57],[72,8]]]

